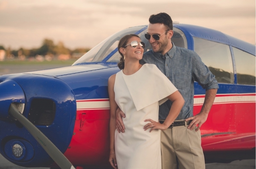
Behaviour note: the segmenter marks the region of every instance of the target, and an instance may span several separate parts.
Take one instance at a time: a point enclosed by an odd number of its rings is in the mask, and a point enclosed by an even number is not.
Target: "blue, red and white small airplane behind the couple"
[[[173,26],[175,46],[197,52],[219,85],[200,129],[206,163],[255,159],[255,45],[213,29]],[[67,168],[111,168],[108,78],[120,71],[120,38],[138,34],[146,52],[151,49],[146,32],[147,26],[117,32],[72,66],[1,75],[1,155],[24,167],[58,168],[67,160],[73,164],[67,162]],[[197,82],[194,87],[195,115],[205,90]],[[64,157],[54,154],[58,150]]]

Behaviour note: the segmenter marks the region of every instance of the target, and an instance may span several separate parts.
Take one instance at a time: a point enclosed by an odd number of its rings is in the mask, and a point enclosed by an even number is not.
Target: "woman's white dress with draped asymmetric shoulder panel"
[[[132,75],[116,74],[115,101],[125,113],[125,132],[115,132],[118,169],[161,169],[160,130],[143,126],[158,121],[159,105],[177,91],[171,81],[154,64],[144,64]]]

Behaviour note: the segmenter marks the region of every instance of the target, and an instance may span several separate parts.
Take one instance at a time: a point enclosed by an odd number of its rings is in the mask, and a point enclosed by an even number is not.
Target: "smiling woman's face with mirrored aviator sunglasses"
[[[139,37],[134,36],[128,40],[126,45],[130,44],[132,41],[141,42]],[[131,45],[128,45],[125,47],[125,60],[141,60],[143,57],[143,52],[144,49],[140,46],[140,43],[138,43],[138,45],[134,48]]]

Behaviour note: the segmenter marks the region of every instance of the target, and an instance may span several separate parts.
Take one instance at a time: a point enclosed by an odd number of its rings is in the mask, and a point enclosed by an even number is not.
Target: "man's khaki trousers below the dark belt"
[[[176,126],[161,131],[162,169],[205,169],[200,130]]]

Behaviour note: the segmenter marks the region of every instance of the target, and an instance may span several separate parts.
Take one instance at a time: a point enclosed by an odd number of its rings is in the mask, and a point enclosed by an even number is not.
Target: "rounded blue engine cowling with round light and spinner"
[[[63,80],[40,74],[0,77],[0,154],[12,163],[25,167],[53,163],[49,148],[44,147],[52,142],[64,153],[73,136],[75,119],[76,98]],[[33,127],[27,127],[28,123]],[[35,138],[35,132],[29,131],[32,128],[45,137]]]

